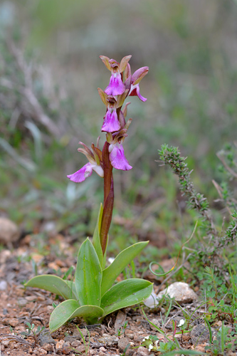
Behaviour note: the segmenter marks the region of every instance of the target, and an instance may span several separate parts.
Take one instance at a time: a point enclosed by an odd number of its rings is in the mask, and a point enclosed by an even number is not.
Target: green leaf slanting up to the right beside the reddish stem
[[[149,244],[149,241],[137,242],[137,244],[125,248],[125,250],[117,255],[115,261],[102,271],[101,295],[104,295],[107,290],[112,287],[117,276],[120,275],[128,263],[130,263],[147,244]]]

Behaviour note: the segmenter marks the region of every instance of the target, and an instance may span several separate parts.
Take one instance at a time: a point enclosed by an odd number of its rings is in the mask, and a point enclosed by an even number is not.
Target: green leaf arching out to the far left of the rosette
[[[75,288],[73,287],[73,282],[65,281],[51,274],[42,274],[41,276],[33,277],[25,286],[48,290],[49,292],[61,295],[64,299],[78,299]]]

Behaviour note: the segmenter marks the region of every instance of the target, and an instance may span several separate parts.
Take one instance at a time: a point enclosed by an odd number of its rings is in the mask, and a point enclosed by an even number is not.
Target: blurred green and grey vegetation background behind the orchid
[[[164,143],[188,157],[196,190],[221,216],[211,180],[221,179],[216,152],[237,134],[236,19],[234,0],[1,1],[1,216],[23,235],[93,234],[102,179],[75,184],[66,175],[86,163],[79,141],[105,140],[97,88],[110,73],[100,55],[132,55],[133,72],[149,66],[140,83],[147,102],[133,97],[128,107],[133,169],[114,174],[110,248],[150,239],[157,254],[190,236],[195,214],[156,162]]]

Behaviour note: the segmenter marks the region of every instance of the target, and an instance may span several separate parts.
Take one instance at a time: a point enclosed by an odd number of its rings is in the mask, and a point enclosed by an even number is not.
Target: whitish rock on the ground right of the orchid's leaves
[[[183,282],[172,283],[168,288],[159,292],[157,298],[161,299],[164,294],[169,295],[170,298],[174,298],[177,303],[191,303],[198,299],[194,290],[187,283]]]

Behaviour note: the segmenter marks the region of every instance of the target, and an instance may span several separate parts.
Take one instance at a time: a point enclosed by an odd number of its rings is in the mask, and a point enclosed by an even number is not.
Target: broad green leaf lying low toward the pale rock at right
[[[103,316],[142,302],[152,293],[152,288],[153,283],[139,278],[115,284],[102,296],[100,307],[105,310]]]

